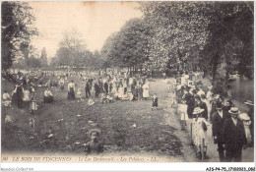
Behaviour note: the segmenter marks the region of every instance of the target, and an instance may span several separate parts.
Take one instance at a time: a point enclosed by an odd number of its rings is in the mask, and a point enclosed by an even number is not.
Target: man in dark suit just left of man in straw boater
[[[213,113],[213,137],[214,143],[218,144],[218,151],[220,161],[224,162],[224,143],[223,143],[223,132],[224,132],[224,120],[227,116],[223,111],[223,104],[221,101],[216,104],[217,111]]]

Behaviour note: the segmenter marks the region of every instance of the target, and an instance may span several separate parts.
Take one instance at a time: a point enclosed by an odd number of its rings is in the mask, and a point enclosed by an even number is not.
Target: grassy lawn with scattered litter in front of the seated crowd
[[[81,82],[77,82],[77,85],[85,95]],[[13,84],[2,82],[2,88],[9,92],[12,87]],[[82,102],[67,100],[66,91],[61,92],[58,87],[51,87],[55,102],[44,104],[44,88],[36,87],[35,90],[39,105],[35,116],[16,106],[7,110],[13,125],[2,125],[5,126],[2,128],[4,152],[83,153],[82,144],[90,141],[88,131],[97,128],[101,130],[104,153],[125,151],[182,155],[182,144],[173,134],[175,129],[165,123],[163,114],[166,111],[163,105],[160,110],[152,111],[152,100],[102,104],[96,99],[96,104],[89,106],[87,99]],[[160,82],[152,82],[150,92],[157,92],[160,101],[166,99],[166,87]],[[30,118],[35,120],[34,129],[29,126]],[[58,121],[60,119],[63,121]],[[49,134],[53,134],[53,137],[47,139]]]

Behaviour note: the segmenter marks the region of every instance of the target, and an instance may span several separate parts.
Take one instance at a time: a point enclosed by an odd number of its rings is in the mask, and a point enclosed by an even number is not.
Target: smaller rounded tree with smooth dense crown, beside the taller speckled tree
[[[150,25],[142,19],[132,19],[106,40],[101,53],[108,65],[139,67],[149,60],[150,37]]]

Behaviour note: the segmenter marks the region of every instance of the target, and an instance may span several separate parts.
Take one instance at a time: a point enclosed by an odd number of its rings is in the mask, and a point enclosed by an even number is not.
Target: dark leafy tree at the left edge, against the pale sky
[[[32,8],[26,2],[2,2],[2,69],[17,58],[28,58],[32,35],[37,34]]]

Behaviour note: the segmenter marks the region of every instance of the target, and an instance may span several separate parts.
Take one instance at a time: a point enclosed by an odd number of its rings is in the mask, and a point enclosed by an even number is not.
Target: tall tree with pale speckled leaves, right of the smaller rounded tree
[[[209,20],[202,16],[204,2],[142,2],[145,20],[154,29],[150,45],[155,68],[165,69],[181,62],[181,67],[199,63],[206,44]]]

